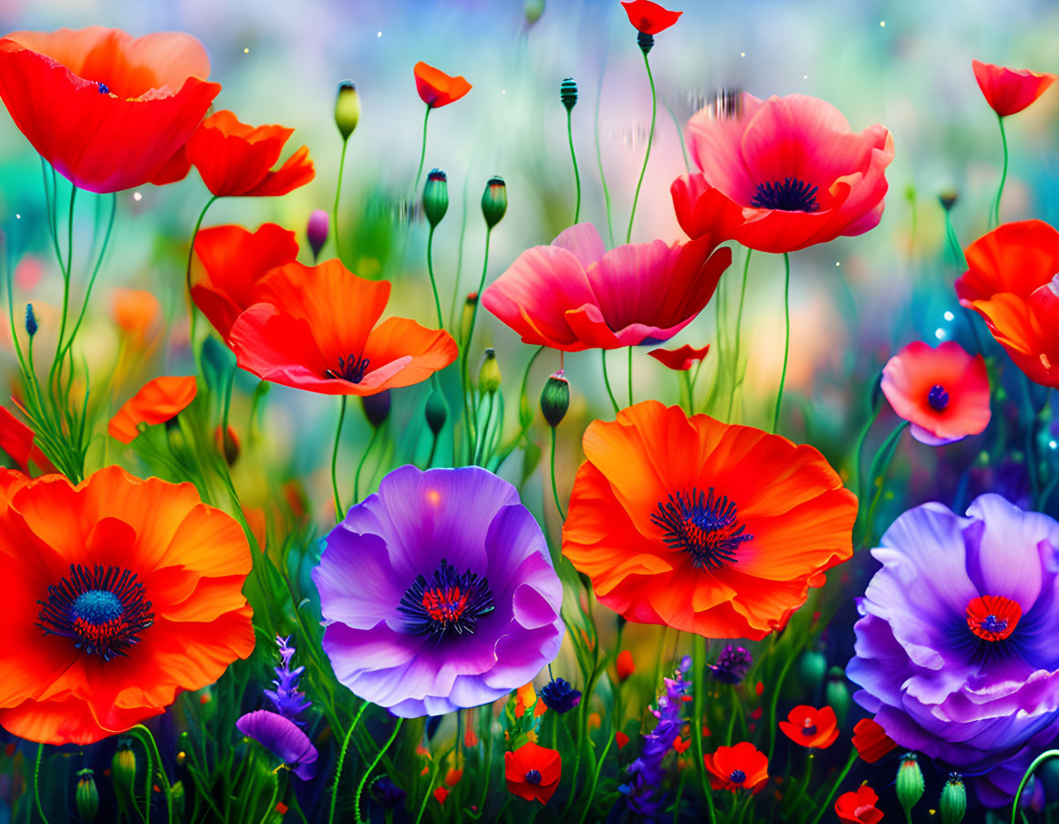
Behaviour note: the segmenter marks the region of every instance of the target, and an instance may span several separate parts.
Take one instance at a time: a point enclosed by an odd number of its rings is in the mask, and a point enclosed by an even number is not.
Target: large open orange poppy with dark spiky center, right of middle
[[[852,555],[857,497],[811,446],[657,400],[582,446],[562,553],[629,621],[762,639]]]

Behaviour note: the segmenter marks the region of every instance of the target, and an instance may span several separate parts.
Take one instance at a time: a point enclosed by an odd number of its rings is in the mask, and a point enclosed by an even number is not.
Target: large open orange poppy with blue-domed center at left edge
[[[192,484],[0,470],[0,726],[22,738],[123,732],[253,651],[250,548]]]

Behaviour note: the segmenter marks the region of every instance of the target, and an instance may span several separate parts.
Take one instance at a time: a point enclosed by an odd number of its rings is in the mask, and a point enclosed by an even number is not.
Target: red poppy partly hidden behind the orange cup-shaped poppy
[[[227,339],[235,319],[255,303],[258,281],[295,257],[294,233],[275,223],[263,223],[254,232],[241,226],[202,229],[195,235],[192,300]]]

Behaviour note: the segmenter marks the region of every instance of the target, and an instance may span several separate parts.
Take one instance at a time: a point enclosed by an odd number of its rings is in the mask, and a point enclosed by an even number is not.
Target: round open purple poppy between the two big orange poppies
[[[335,676],[406,718],[522,686],[566,632],[540,526],[480,467],[390,472],[327,536],[312,580]]]

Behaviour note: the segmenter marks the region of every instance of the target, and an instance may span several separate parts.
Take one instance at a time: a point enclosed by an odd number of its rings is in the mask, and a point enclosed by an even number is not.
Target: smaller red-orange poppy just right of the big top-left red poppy
[[[308,146],[280,168],[283,147],[294,130],[286,126],[248,126],[227,109],[211,114],[187,141],[187,160],[217,197],[273,197],[304,186],[316,177]]]

